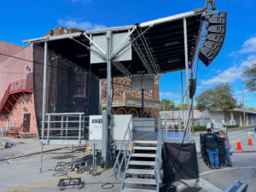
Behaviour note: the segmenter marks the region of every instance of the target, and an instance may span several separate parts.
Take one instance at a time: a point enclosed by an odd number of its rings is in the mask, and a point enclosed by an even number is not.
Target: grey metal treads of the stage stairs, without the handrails
[[[156,192],[156,141],[134,141],[123,175],[120,192]]]

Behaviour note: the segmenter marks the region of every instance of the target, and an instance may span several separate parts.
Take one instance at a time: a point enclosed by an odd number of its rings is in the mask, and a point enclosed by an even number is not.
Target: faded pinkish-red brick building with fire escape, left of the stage
[[[78,32],[76,28],[57,26],[44,36]],[[38,135],[33,90],[34,48],[0,41],[0,129],[23,125]]]

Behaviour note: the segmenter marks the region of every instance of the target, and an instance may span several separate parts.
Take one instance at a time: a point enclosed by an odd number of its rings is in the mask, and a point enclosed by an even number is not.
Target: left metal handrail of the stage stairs
[[[125,141],[125,137],[128,135],[128,139],[127,141]],[[119,178],[120,176],[120,172],[121,172],[121,169],[122,169],[122,166],[123,166],[123,163],[124,163],[124,160],[125,160],[125,155],[127,153],[127,149],[129,147],[129,143],[132,141],[132,131],[131,131],[131,119],[129,120],[129,123],[128,123],[128,126],[126,128],[126,131],[125,131],[125,135],[124,135],[124,138],[123,138],[123,142],[121,143],[120,145],[120,148],[119,148],[119,153],[118,155],[116,156],[116,160],[114,162],[114,165],[113,165],[113,172],[114,172],[114,176],[116,179]],[[126,144],[125,144],[126,143]],[[119,157],[120,157],[120,154],[121,154],[121,151],[122,151],[122,148],[125,144],[125,151],[124,151],[124,154],[122,156],[122,160],[121,162],[119,162]],[[132,149],[131,149],[132,150]],[[118,172],[115,171],[116,167],[118,166]]]

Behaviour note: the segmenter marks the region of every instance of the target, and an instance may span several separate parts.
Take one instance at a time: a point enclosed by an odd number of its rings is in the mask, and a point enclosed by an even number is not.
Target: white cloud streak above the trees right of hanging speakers
[[[241,73],[246,67],[252,66],[256,62],[256,55],[250,55],[246,61],[242,61],[240,65],[235,65],[219,73],[217,76],[208,80],[201,80],[201,84],[220,84],[220,83],[232,83],[236,79],[241,79]]]

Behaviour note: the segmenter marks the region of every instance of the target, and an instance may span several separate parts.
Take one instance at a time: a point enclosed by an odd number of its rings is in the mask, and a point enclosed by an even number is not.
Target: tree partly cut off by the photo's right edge
[[[241,74],[242,77],[246,78],[243,84],[246,84],[247,89],[251,92],[256,91],[256,63],[253,63],[252,67],[247,67],[246,70]]]

